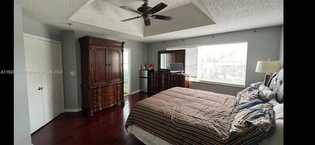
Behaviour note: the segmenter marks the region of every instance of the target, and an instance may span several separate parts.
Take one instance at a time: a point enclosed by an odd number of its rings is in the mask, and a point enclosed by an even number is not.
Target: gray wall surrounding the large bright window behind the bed
[[[153,63],[154,66],[158,68],[158,51],[166,50],[167,47],[248,41],[245,82],[245,87],[248,87],[251,83],[263,82],[265,74],[255,72],[258,60],[267,60],[268,58],[270,58],[270,60],[280,59],[280,47],[283,45],[280,44],[283,43],[283,41],[281,41],[282,31],[282,26],[277,26],[149,43],[147,44],[147,61]],[[283,51],[281,53],[283,53]],[[191,81],[189,82],[189,87],[230,95],[236,95],[237,92],[244,89],[244,87],[230,87]]]

